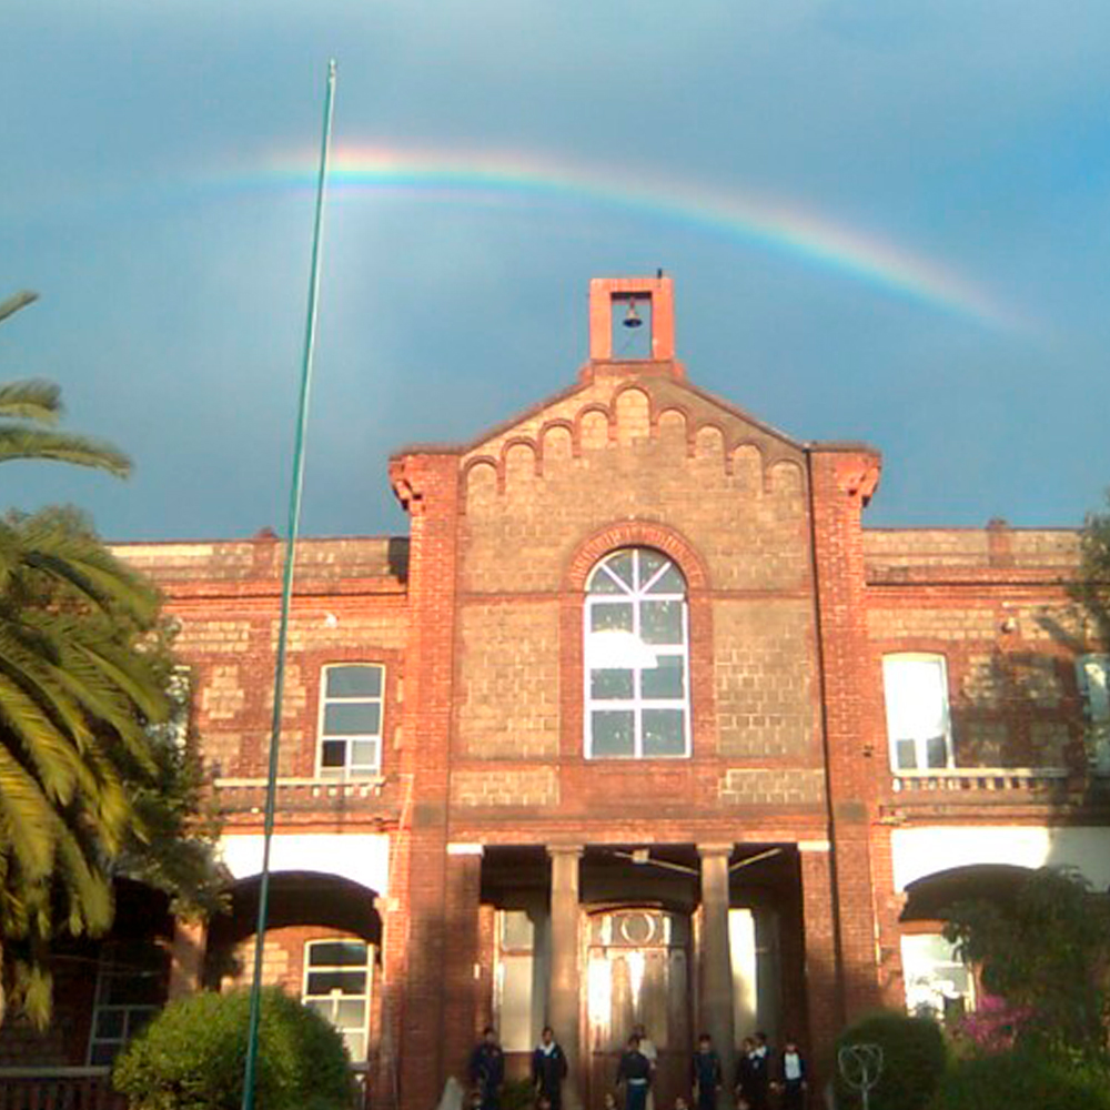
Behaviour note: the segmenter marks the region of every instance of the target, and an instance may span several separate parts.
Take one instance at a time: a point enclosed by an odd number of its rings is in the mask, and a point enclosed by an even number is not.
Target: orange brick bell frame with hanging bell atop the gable
[[[589,283],[593,362],[669,362],[675,356],[674,289],[655,278],[595,278]]]

